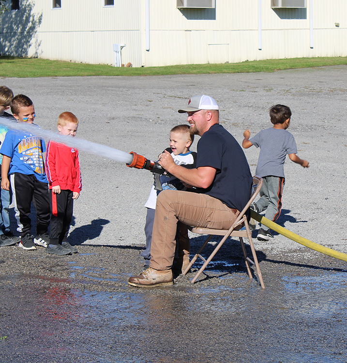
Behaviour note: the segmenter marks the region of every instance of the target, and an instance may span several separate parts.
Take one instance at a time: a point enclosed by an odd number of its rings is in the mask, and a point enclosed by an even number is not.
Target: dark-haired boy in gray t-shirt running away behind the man
[[[251,132],[243,133],[242,147],[260,147],[256,175],[263,178],[260,198],[252,203],[251,209],[257,213],[265,212],[265,217],[276,221],[281,214],[282,193],[285,186],[284,163],[288,154],[289,159],[302,167],[309,167],[307,160],[297,156],[297,146],[294,136],[287,131],[290,125],[291,110],[288,106],[274,105],[270,108],[270,121],[273,126],[260,131],[249,139]],[[251,218],[250,228],[255,229],[256,221]],[[269,241],[273,239],[269,227],[260,225],[257,239]]]

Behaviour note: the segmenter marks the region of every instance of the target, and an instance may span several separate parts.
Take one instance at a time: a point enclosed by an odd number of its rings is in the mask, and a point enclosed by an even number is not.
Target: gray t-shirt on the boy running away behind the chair
[[[260,147],[256,175],[266,177],[285,177],[284,163],[287,154],[296,154],[297,148],[294,136],[287,130],[265,129],[252,137],[249,141],[256,147]]]

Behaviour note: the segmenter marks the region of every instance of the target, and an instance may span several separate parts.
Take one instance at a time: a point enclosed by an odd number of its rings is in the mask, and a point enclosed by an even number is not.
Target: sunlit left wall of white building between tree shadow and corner
[[[42,58],[114,64],[113,44],[126,44],[122,61],[141,63],[140,9],[138,0],[62,0],[61,9],[51,9],[51,1],[36,0],[37,12],[45,14],[36,33]],[[131,14],[131,16],[125,16]]]

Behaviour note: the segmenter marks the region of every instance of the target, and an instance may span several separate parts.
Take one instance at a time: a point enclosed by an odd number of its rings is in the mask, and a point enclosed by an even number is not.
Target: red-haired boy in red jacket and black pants
[[[78,119],[72,112],[62,112],[58,117],[60,135],[76,136]],[[45,158],[49,183],[51,225],[46,252],[69,255],[78,250],[67,241],[73,215],[74,200],[82,189],[78,150],[52,140],[47,143]]]

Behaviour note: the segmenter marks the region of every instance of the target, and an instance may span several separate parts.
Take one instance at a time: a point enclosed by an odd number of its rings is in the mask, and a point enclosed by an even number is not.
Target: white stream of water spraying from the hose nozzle
[[[133,155],[130,155],[127,152],[117,150],[106,145],[101,145],[95,142],[83,140],[80,138],[60,135],[53,131],[43,130],[39,127],[33,126],[30,123],[25,123],[25,122],[17,123],[15,121],[9,120],[8,118],[0,116],[0,124],[12,130],[21,131],[24,133],[28,132],[30,134],[34,134],[35,136],[39,136],[46,140],[48,139],[54,140],[56,142],[60,142],[65,145],[75,147],[79,150],[88,151],[92,154],[96,154],[99,156],[105,156],[108,159],[116,160],[120,163],[129,164],[133,160]]]

